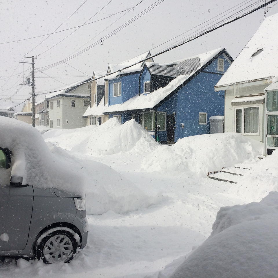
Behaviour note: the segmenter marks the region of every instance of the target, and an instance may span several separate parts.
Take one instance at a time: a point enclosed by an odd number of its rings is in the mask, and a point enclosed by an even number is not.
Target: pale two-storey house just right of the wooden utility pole
[[[48,94],[45,98],[48,109],[48,127],[78,128],[86,126],[83,114],[90,105],[90,89],[92,78],[70,85],[70,89],[61,89]],[[83,82],[88,82],[83,84]]]

